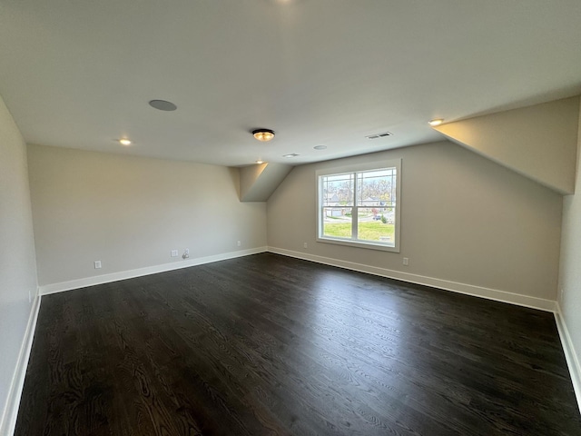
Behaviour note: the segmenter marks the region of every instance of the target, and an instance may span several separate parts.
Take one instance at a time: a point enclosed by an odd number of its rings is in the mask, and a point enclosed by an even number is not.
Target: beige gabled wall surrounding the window
[[[315,242],[315,171],[399,157],[401,252]],[[559,194],[457,144],[424,144],[295,167],[269,199],[268,239],[296,253],[554,301],[561,206]]]

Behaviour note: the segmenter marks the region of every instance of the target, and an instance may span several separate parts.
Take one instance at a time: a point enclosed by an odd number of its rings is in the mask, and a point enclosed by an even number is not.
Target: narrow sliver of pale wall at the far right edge
[[[568,346],[571,376],[576,382],[576,394],[581,408],[581,115],[576,159],[576,189],[563,201],[563,232],[559,270],[559,306],[566,325],[565,345]],[[570,341],[570,342],[567,342]]]

